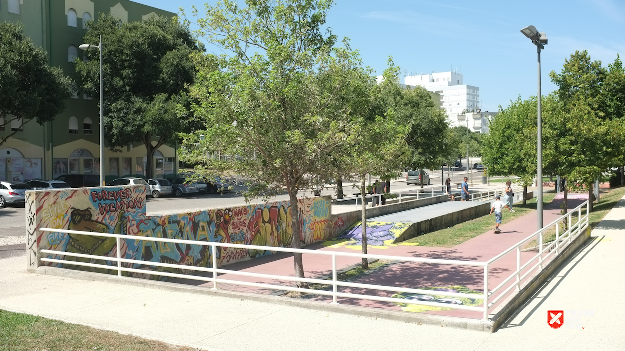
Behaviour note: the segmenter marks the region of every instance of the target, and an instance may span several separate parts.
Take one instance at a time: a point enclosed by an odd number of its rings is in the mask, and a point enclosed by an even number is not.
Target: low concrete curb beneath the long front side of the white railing
[[[293,299],[291,297],[282,297],[276,295],[261,295],[251,292],[239,292],[234,290],[217,289],[213,290],[207,287],[197,287],[192,285],[184,285],[179,283],[161,282],[158,280],[148,280],[133,277],[119,277],[118,275],[104,275],[93,272],[84,272],[81,270],[71,270],[58,267],[38,267],[36,269],[28,269],[30,273],[57,275],[60,277],[69,277],[74,279],[96,280],[101,282],[111,282],[114,284],[132,285],[137,287],[147,287],[151,289],[169,290],[176,292],[191,292],[194,294],[206,294],[212,296],[230,297],[233,299],[252,300],[260,302],[269,302],[271,304],[286,305],[292,307],[302,307],[312,310],[324,310],[327,312],[335,312],[341,314],[361,315],[364,317],[381,318],[398,320],[407,323],[422,323],[430,325],[441,325],[441,327],[452,327],[457,329],[477,330],[481,332],[494,331],[492,320],[485,322],[484,320],[466,319],[462,317],[449,317],[444,315],[432,315],[415,312],[407,312],[400,310],[385,310],[376,307],[329,304],[314,300]]]

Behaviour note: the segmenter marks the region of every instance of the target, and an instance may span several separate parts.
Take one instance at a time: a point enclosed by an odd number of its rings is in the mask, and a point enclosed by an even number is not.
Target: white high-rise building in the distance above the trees
[[[479,87],[469,86],[462,81],[462,74],[441,72],[407,76],[406,86],[422,86],[441,96],[441,108],[447,111],[451,126],[467,126],[471,131],[487,133],[488,121],[496,112],[482,113],[479,106]],[[474,112],[467,123],[463,111]]]

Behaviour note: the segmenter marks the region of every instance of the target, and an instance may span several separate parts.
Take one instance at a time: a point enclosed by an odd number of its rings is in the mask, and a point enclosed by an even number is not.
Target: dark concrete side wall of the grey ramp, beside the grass
[[[468,209],[459,210],[451,214],[439,215],[431,219],[422,220],[421,222],[413,223],[406,231],[404,231],[397,239],[395,243],[402,242],[404,240],[411,239],[421,234],[433,232],[434,230],[440,230],[443,228],[451,227],[461,222],[466,222],[482,215],[487,215],[491,211],[491,203],[484,202],[483,204]]]

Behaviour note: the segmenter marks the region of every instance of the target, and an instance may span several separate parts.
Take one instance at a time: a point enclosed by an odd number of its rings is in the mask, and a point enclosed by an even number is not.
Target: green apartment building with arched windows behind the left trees
[[[151,16],[176,14],[127,0],[0,0],[0,21],[19,23],[34,44],[45,49],[49,64],[61,67],[76,79],[73,61],[83,59],[83,22],[98,20],[111,13],[121,21],[144,21]],[[87,43],[98,45],[97,42]],[[104,38],[106,46],[106,38]],[[106,92],[104,92],[106,99]],[[145,174],[146,147],[143,143],[126,147],[123,152],[99,151],[99,97],[90,97],[77,87],[66,110],[43,126],[31,121],[0,146],[0,180],[25,181],[54,179],[61,174],[99,174],[107,179]],[[105,116],[106,118],[106,116]],[[0,127],[0,137],[15,131],[21,123]],[[106,143],[105,143],[106,145]],[[154,175],[178,172],[176,146],[164,145],[154,154]],[[101,164],[103,167],[101,167]]]

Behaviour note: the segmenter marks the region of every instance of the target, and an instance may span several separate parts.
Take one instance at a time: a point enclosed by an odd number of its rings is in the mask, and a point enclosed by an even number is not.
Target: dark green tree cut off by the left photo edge
[[[23,26],[0,23],[0,126],[54,121],[72,96],[73,81],[58,67],[48,66],[47,52],[32,44]]]

